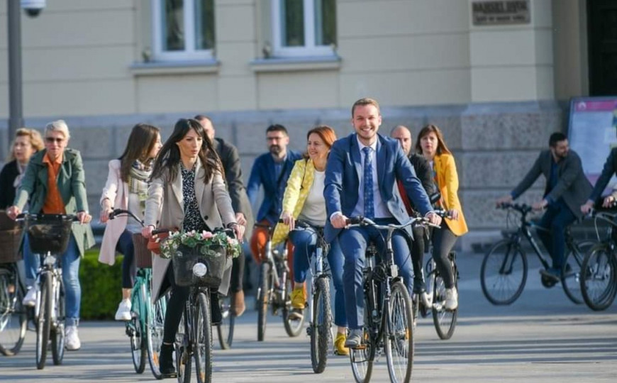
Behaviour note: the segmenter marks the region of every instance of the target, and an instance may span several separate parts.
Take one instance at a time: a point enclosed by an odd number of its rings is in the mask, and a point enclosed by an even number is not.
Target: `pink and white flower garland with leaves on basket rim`
[[[242,253],[240,242],[230,238],[224,231],[174,231],[165,240],[162,240],[161,257],[171,258],[172,255],[182,256],[178,251],[180,245],[189,248],[199,247],[202,254],[209,257],[220,257],[221,248],[227,250],[228,257],[238,257]]]

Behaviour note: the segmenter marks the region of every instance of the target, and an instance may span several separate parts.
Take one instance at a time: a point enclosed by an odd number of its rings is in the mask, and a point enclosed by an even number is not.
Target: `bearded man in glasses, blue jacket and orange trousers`
[[[289,135],[287,129],[279,124],[266,129],[268,152],[260,155],[253,162],[248,179],[247,194],[252,205],[255,204],[260,187],[264,188],[264,200],[257,211],[257,222],[274,227],[282,212],[282,200],[287,179],[294,168],[296,160],[301,159],[299,152],[287,150]],[[265,257],[265,245],[268,239],[267,228],[255,227],[250,238],[250,249],[257,265]],[[293,248],[288,245],[289,269],[293,269]],[[291,275],[290,277],[293,277]],[[293,280],[293,279],[292,279]]]

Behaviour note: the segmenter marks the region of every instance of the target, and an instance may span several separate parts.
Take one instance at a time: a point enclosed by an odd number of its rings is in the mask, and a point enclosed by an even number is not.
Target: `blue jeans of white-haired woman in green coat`
[[[26,268],[26,280],[33,281],[40,266],[40,255],[30,252],[27,238],[23,243],[23,265]],[[27,249],[27,250],[26,250]],[[82,287],[79,284],[79,249],[71,235],[67,251],[62,254],[62,282],[65,283],[67,326],[79,324],[79,309],[82,303]],[[30,284],[29,282],[28,284]]]

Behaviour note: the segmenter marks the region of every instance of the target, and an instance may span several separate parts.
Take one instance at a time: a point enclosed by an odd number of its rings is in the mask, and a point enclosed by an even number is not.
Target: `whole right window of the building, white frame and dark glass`
[[[272,0],[275,57],[333,55],[335,0]]]

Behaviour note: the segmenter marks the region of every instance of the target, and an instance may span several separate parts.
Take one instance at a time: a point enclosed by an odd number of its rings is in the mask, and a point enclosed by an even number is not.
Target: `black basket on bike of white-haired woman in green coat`
[[[62,254],[71,238],[72,216],[48,214],[26,223],[31,252]]]

